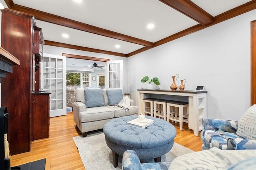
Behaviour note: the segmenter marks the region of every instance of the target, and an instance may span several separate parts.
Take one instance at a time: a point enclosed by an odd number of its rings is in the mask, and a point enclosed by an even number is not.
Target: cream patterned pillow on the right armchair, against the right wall
[[[238,121],[236,134],[245,139],[256,140],[256,104],[249,107]]]

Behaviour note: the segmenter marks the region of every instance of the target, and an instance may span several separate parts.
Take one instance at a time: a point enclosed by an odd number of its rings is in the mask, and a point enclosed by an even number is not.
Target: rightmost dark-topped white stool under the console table
[[[188,123],[188,102],[180,102],[169,100],[166,101],[166,121],[175,121],[180,123],[180,130],[182,131],[183,122]],[[186,107],[187,113],[183,113],[183,108]],[[179,116],[178,116],[179,115]]]

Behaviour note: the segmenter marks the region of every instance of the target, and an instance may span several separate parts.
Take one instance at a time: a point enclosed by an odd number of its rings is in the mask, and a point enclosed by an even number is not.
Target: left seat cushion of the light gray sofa
[[[80,122],[99,121],[113,117],[114,111],[105,106],[86,108],[86,111],[79,114]]]

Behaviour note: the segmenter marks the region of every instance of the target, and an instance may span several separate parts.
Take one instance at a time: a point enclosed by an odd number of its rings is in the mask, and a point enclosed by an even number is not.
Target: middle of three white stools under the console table
[[[162,118],[166,120],[166,100],[153,100],[154,104],[154,117]]]

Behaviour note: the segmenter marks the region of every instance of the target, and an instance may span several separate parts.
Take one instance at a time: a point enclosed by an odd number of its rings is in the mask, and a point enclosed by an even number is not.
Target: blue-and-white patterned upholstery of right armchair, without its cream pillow
[[[256,141],[236,134],[238,121],[203,119],[202,149],[217,147],[222,150],[256,149]]]

